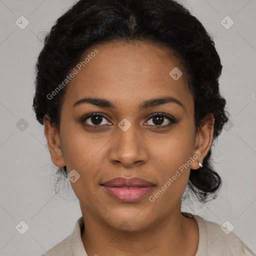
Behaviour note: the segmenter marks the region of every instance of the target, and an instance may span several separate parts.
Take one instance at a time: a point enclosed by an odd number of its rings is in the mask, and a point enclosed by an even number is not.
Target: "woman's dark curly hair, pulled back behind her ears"
[[[174,0],[80,0],[61,15],[45,36],[36,63],[32,108],[39,123],[43,124],[47,113],[59,130],[61,99],[67,85],[52,99],[47,95],[66,78],[89,46],[111,41],[144,41],[168,49],[182,65],[192,92],[195,127],[212,113],[215,141],[228,120],[226,101],[218,86],[220,58],[200,21]],[[216,193],[222,182],[210,162],[212,145],[203,167],[191,169],[189,174],[188,187],[201,202]],[[66,166],[58,172],[67,177]]]

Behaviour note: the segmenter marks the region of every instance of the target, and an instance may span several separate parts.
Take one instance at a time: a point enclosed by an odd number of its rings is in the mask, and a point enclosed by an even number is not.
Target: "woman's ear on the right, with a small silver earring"
[[[212,113],[208,113],[203,119],[203,124],[197,129],[195,134],[193,155],[198,155],[198,157],[195,161],[192,161],[191,169],[198,169],[200,167],[198,162],[202,163],[203,158],[208,153],[213,140],[213,126],[214,116]]]

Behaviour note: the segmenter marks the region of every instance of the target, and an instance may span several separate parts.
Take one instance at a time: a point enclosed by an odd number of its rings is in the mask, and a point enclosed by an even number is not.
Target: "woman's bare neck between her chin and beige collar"
[[[180,206],[181,201],[164,219],[136,231],[116,229],[81,207],[85,223],[81,234],[83,246],[88,256],[194,256],[198,245],[198,234],[195,235],[198,227],[194,219],[181,214]]]

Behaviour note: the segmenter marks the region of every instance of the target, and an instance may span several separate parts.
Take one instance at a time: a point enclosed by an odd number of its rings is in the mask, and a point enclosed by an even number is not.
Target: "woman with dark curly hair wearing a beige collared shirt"
[[[181,212],[186,187],[205,202],[221,185],[210,162],[228,120],[221,68],[173,0],[80,0],[58,18],[33,109],[82,216],[43,255],[255,255],[228,225]]]

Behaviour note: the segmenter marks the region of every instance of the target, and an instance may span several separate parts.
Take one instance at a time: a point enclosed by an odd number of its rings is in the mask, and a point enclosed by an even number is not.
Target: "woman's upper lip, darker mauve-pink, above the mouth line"
[[[139,177],[123,178],[116,177],[103,183],[104,186],[153,186],[154,184]]]

